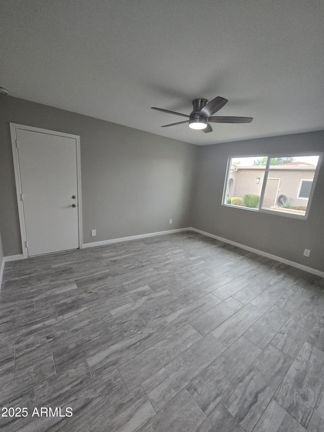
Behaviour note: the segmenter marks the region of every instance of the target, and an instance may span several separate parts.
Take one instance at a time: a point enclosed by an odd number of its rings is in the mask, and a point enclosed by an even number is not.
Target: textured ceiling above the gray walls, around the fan
[[[322,0],[1,0],[10,95],[194,144],[324,129]],[[222,96],[205,134],[183,117]]]

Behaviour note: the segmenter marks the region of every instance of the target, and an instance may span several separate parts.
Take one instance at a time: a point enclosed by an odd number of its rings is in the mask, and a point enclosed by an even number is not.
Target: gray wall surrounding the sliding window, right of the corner
[[[191,226],[324,271],[324,163],[307,220],[221,205],[229,156],[323,150],[324,131],[200,147]]]

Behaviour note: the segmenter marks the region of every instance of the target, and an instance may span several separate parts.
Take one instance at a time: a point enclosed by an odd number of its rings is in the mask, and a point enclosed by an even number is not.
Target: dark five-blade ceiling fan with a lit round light
[[[161,128],[168,128],[169,126],[182,125],[183,123],[189,123],[191,129],[201,129],[203,132],[213,132],[210,123],[251,123],[253,117],[211,117],[219,109],[221,109],[226,103],[227,99],[220,96],[212,99],[208,102],[207,99],[194,99],[192,101],[193,110],[188,114],[181,114],[180,112],[169,111],[168,109],[156,108],[152,106],[152,109],[157,111],[169,112],[170,114],[182,115],[188,117],[189,120],[185,122],[171,123],[170,125],[161,126]]]

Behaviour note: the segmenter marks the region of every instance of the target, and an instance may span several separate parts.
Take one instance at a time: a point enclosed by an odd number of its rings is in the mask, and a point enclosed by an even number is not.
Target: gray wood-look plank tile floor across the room
[[[324,280],[194,232],[7,263],[0,331],[2,430],[324,431]]]

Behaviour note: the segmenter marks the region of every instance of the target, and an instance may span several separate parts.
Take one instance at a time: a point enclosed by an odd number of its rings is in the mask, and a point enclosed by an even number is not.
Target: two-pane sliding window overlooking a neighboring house
[[[271,154],[228,159],[222,204],[306,218],[319,154]]]

